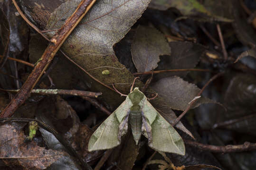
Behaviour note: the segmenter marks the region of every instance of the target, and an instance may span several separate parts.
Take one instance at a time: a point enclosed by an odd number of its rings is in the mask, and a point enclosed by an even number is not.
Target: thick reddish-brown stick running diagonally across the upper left
[[[13,0],[15,1],[15,0]],[[39,78],[42,76],[50,61],[54,58],[55,54],[65,42],[69,34],[75,29],[81,19],[85,16],[88,10],[92,7],[96,0],[82,0],[76,11],[69,17],[61,29],[52,37],[51,42],[47,49],[45,50],[39,62],[28,76],[28,79],[24,85],[20,88],[20,91],[15,95],[15,97],[9,102],[7,107],[0,114],[0,118],[11,117],[14,111],[24,103],[30,91],[37,84]]]

